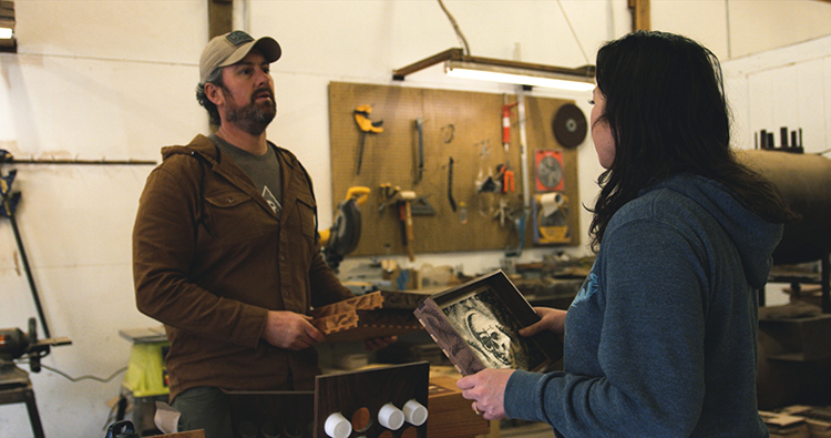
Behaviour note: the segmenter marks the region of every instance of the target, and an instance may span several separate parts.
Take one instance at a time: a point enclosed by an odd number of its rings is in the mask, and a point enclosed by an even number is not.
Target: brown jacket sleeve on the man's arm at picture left
[[[218,297],[187,276],[195,252],[196,191],[195,182],[164,167],[147,177],[133,228],[136,306],[166,325],[255,347],[267,310]]]

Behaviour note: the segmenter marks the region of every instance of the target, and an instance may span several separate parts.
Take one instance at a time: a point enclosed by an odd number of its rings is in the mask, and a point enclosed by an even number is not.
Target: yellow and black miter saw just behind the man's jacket
[[[320,245],[324,259],[335,272],[338,272],[343,256],[355,251],[361,237],[361,212],[369,196],[369,187],[349,187],[346,198],[338,203],[335,223],[329,230],[320,232]]]

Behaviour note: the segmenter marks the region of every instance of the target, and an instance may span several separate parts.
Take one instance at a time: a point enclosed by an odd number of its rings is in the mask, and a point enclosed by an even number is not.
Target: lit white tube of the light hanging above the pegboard
[[[447,61],[444,63],[444,72],[453,78],[478,79],[570,91],[591,91],[595,86],[594,79],[591,77],[576,77],[465,61]]]

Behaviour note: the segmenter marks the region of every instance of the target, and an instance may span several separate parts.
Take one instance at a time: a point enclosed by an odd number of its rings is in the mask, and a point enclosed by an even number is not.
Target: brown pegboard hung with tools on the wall
[[[516,96],[331,82],[329,123],[332,198],[336,204],[332,207],[337,208],[337,203],[343,200],[350,186],[367,186],[372,191],[369,202],[361,206],[361,238],[352,254],[407,254],[398,206],[392,204],[381,208],[382,184],[414,191],[434,211],[433,215],[419,215],[418,210],[425,208],[413,207],[414,241],[411,245],[417,257],[419,253],[519,248],[515,221],[511,215],[501,216],[500,211],[513,212],[513,217],[520,216],[523,177],[530,179],[532,197],[537,193],[534,185],[537,150],[562,152],[562,193],[570,205],[566,216],[568,236],[562,244],[578,245],[577,153],[575,149],[560,145],[552,131],[556,111],[573,101],[526,95],[530,175],[522,175],[516,106],[511,110],[511,142],[507,151],[503,147],[502,106],[505,102],[514,103]],[[361,105],[371,106],[369,119],[382,122],[382,132],[362,134],[353,114]],[[423,126],[423,161],[419,154],[419,119]],[[362,154],[359,151],[361,135],[366,135]],[[449,174],[451,157],[452,185]],[[420,162],[423,162],[423,167],[419,179]],[[478,187],[482,181],[488,176],[495,177],[500,164],[507,164],[514,172],[514,191],[480,193]],[[452,194],[455,211],[449,194]],[[501,208],[502,205],[507,208]],[[524,247],[534,245],[532,225],[532,220],[526,221]]]

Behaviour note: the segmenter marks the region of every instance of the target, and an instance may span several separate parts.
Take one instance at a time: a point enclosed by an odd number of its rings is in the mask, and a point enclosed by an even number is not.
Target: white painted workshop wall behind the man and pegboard
[[[158,160],[163,145],[185,143],[207,131],[204,110],[194,99],[197,59],[207,41],[206,0],[14,3],[19,53],[0,54],[0,149],[18,159]],[[831,33],[831,6],[813,0],[759,3],[653,0],[653,28],[686,33],[721,59]],[[472,54],[482,57],[576,67],[593,62],[603,41],[629,29],[625,0],[562,1],[583,50],[556,1],[445,0],[445,4]],[[329,224],[327,84],[392,84],[393,69],[460,43],[432,0],[238,0],[236,9],[246,12],[245,18],[237,17],[240,27],[254,35],[273,35],[284,48],[283,59],[273,67],[279,113],[269,137],[307,165],[318,187],[321,224]],[[800,78],[827,83],[829,61],[821,63],[824,77],[808,69]],[[748,81],[757,79],[762,77]],[[815,120],[828,123],[828,93],[820,104],[810,90],[787,85],[793,83],[791,74],[776,79],[789,91],[771,96],[758,111],[780,105],[780,100],[793,101],[792,92],[806,102],[817,101],[815,106],[806,105],[809,112],[814,109]],[[401,85],[513,91],[450,80],[438,67],[412,74]],[[588,114],[588,95],[533,93],[574,99]],[[746,126],[762,120],[751,113],[742,116]],[[806,143],[808,139],[806,133]],[[825,136],[824,144],[828,141]],[[591,141],[581,146],[578,160],[581,198],[591,204],[601,172]],[[130,243],[138,194],[151,166],[20,164],[2,171],[10,169],[18,169],[14,186],[23,193],[18,220],[52,335],[73,340],[72,346],[54,348],[44,364],[75,377],[106,377],[127,361],[130,344],[119,337],[119,329],[156,324],[135,309]],[[584,233],[588,221],[584,212]],[[523,261],[548,252],[526,251]],[[587,254],[585,247],[570,252]],[[497,266],[501,256],[501,252],[419,255],[414,266],[462,265],[466,273],[476,273]],[[343,271],[362,262],[350,261]],[[403,257],[399,262],[407,264]],[[25,329],[35,312],[8,220],[0,221],[0,327]],[[119,394],[122,376],[107,384],[71,383],[48,370],[31,377],[48,436],[103,436],[109,412],[104,401]],[[28,436],[23,405],[0,406],[0,437]]]

